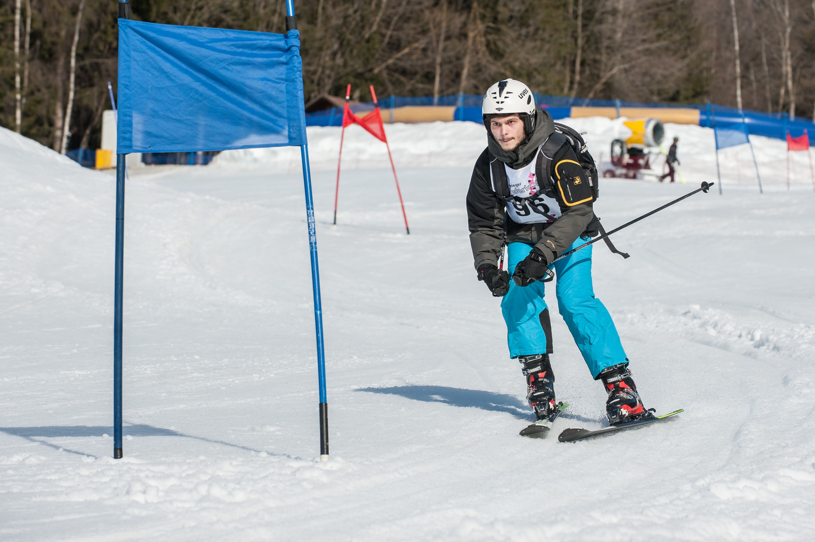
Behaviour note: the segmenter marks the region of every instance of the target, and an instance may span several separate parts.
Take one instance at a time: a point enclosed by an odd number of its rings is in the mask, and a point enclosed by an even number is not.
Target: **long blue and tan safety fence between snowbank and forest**
[[[453,113],[453,120],[455,121],[472,121],[482,122],[481,117],[481,103],[483,95],[447,95],[439,96],[434,100],[432,96],[424,97],[405,97],[405,96],[390,96],[381,99],[379,102],[382,109],[382,117],[388,121],[389,108],[402,108],[406,106],[432,106],[438,105],[443,107],[455,107]],[[540,107],[545,108],[551,113],[554,119],[562,119],[571,117],[571,108],[573,107],[591,107],[591,108],[685,108],[685,109],[698,109],[699,111],[699,126],[706,128],[713,127],[714,121],[721,121],[725,123],[733,123],[744,121],[747,123],[747,130],[751,135],[763,135],[764,137],[774,139],[786,140],[786,132],[789,130],[793,137],[798,137],[804,134],[807,130],[809,134],[815,131],[815,124],[810,121],[796,119],[791,121],[786,113],[768,113],[760,111],[751,111],[745,109],[743,113],[738,112],[737,108],[728,108],[722,105],[711,105],[708,108],[707,104],[647,104],[641,102],[628,102],[625,100],[615,99],[584,99],[584,98],[567,98],[565,96],[553,96],[535,94],[535,102],[540,104]],[[374,108],[373,102],[364,104],[355,104],[350,106],[353,112],[365,112]],[[306,113],[307,126],[342,126],[342,108],[331,108],[324,111],[313,113]],[[811,140],[815,144],[815,138]]]

